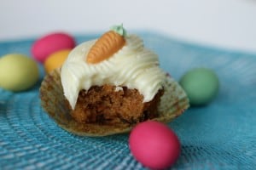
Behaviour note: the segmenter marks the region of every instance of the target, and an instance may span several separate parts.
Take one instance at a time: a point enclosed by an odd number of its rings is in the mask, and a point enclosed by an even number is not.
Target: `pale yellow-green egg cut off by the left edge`
[[[23,54],[6,54],[0,58],[0,88],[18,92],[38,82],[37,63]]]

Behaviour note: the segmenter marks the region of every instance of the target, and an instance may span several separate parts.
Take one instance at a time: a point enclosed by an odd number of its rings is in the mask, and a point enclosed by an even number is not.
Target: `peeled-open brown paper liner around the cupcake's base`
[[[165,93],[161,97],[158,107],[160,116],[151,120],[171,122],[189,107],[189,99],[183,91],[183,88],[181,88],[172,77],[166,76],[164,88]],[[127,127],[127,125],[124,124],[110,126],[76,122],[70,115],[71,109],[63,94],[61,69],[51,71],[44,77],[40,88],[40,98],[44,111],[46,111],[60,127],[80,136],[106,136],[115,133],[125,133],[129,132],[131,128],[135,126],[131,125]]]

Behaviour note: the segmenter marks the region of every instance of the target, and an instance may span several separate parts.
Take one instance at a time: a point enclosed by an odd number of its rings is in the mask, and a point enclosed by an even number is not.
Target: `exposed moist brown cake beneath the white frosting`
[[[81,123],[136,124],[158,116],[157,107],[162,94],[161,89],[154,99],[143,103],[143,95],[137,89],[112,85],[93,86],[87,92],[79,92],[71,116]]]

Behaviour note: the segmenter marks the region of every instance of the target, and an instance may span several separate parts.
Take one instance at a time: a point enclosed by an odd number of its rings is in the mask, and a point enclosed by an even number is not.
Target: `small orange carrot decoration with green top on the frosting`
[[[96,64],[104,59],[108,59],[125,45],[125,30],[121,26],[116,26],[113,31],[108,31],[100,37],[90,48],[86,62]]]

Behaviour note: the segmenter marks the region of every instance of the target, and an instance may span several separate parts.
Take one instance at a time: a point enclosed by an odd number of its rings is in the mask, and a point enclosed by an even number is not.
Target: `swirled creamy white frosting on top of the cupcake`
[[[96,40],[84,42],[73,48],[61,67],[61,84],[64,95],[74,109],[79,91],[92,86],[109,84],[137,89],[148,102],[163,87],[166,73],[159,67],[157,54],[144,48],[136,35],[125,37],[125,46],[109,59],[98,64],[86,63],[86,56]]]

